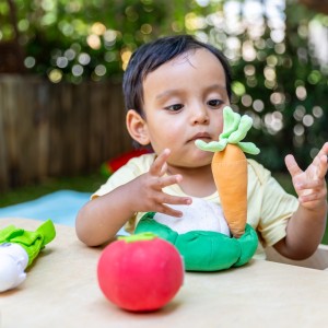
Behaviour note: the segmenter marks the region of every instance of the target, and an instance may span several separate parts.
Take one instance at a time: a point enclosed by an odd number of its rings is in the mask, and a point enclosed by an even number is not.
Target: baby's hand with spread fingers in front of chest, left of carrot
[[[138,186],[138,206],[139,212],[161,212],[171,216],[179,218],[183,215],[180,211],[176,211],[167,204],[190,204],[190,197],[177,197],[163,192],[163,188],[179,184],[183,179],[181,175],[165,176],[167,169],[166,160],[171,151],[165,149],[154,161],[150,171],[134,183]],[[137,187],[136,186],[136,187]]]

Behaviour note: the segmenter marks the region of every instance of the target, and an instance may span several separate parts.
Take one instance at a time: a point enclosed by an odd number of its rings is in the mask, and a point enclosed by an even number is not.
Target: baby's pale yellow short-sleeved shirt
[[[155,154],[145,154],[130,160],[115,172],[92,198],[110,192],[118,186],[149,172],[154,159]],[[189,196],[178,185],[165,187],[163,191],[174,196]],[[203,199],[221,206],[218,191]],[[256,258],[266,258],[263,247],[272,246],[285,236],[288,220],[297,207],[297,199],[286,194],[268,169],[256,161],[248,160],[247,223],[257,231],[259,236]],[[131,218],[126,230],[132,233],[143,214],[140,212]]]

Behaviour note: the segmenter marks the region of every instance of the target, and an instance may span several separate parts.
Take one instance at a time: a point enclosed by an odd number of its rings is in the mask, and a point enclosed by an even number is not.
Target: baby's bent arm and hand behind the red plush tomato
[[[79,239],[89,246],[110,241],[136,212],[162,212],[172,216],[183,213],[167,204],[189,204],[189,197],[164,194],[162,189],[179,184],[180,175],[165,176],[169,150],[164,150],[150,171],[112,192],[89,201],[78,213]]]

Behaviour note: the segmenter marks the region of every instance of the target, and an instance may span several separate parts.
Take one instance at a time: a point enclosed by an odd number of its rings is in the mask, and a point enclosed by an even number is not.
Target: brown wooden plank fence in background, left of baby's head
[[[0,75],[0,191],[90,173],[130,149],[120,83]]]

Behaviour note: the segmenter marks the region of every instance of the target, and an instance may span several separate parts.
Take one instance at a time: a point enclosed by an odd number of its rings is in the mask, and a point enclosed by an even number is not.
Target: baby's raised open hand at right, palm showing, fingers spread
[[[302,171],[294,156],[285,157],[285,165],[292,176],[298,201],[303,207],[315,210],[327,201],[327,186],[325,175],[328,168],[328,142],[324,144],[312,164]]]

